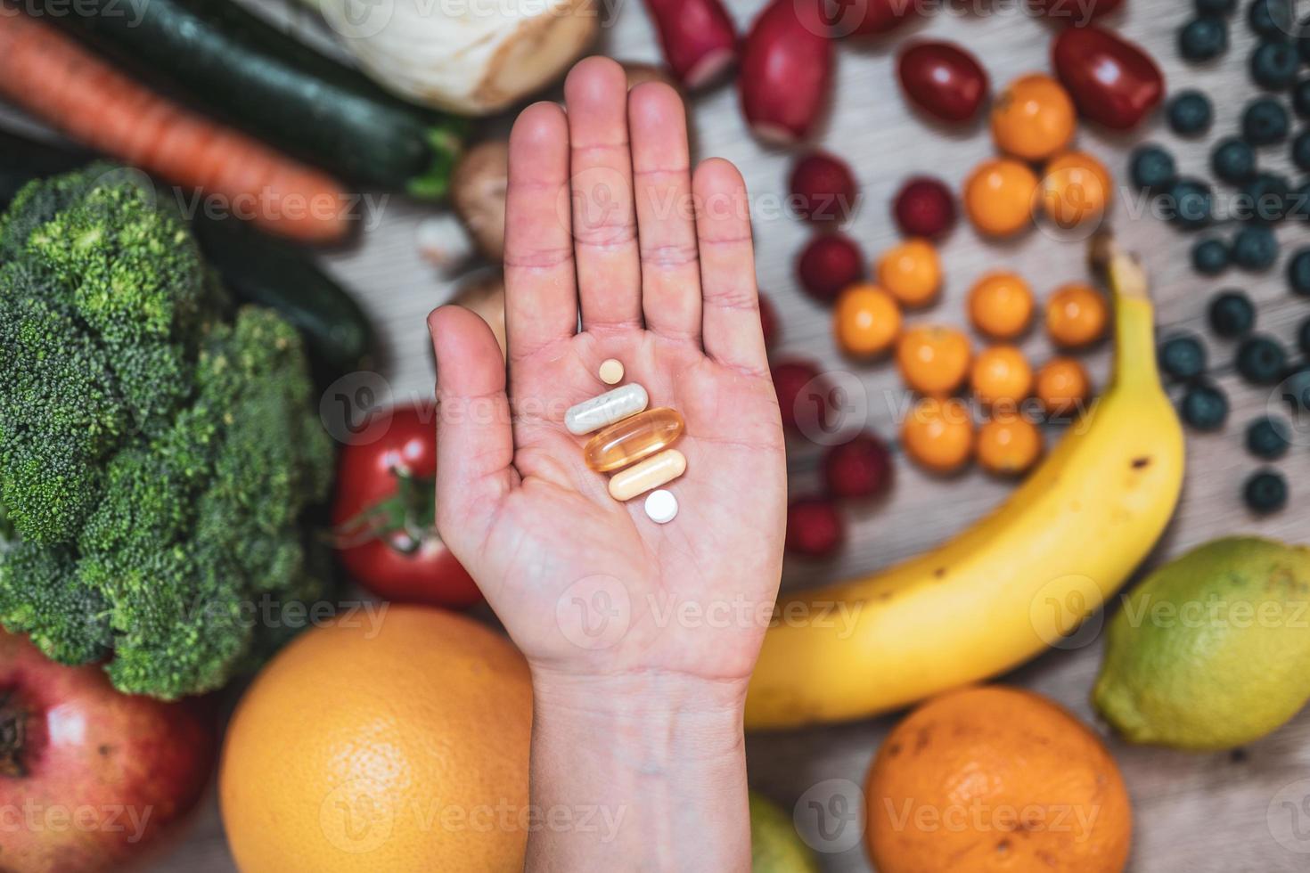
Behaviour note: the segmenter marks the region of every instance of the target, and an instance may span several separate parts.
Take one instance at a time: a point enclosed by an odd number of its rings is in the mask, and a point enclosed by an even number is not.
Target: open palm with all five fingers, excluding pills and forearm
[[[534,671],[744,687],[786,507],[745,186],[726,161],[693,175],[672,88],[629,93],[595,58],[565,94],[567,111],[533,105],[510,139],[508,368],[477,315],[430,318],[438,526]],[[613,500],[565,429],[609,389],[609,357],[686,423],[668,525]]]

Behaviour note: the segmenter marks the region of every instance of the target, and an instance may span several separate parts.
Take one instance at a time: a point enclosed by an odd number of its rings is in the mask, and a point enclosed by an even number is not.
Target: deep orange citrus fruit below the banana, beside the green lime
[[[988,686],[929,700],[869,771],[879,873],[1116,873],[1132,806],[1114,758],[1069,712]]]

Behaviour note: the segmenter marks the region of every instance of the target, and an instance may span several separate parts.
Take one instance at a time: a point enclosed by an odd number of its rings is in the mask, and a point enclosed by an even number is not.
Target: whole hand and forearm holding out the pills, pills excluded
[[[629,94],[591,58],[565,97],[510,137],[508,368],[473,313],[428,319],[438,527],[532,668],[533,806],[616,823],[529,834],[528,869],[748,870],[741,709],[786,470],[745,186],[722,160],[692,174],[667,85]],[[613,500],[563,425],[609,357],[685,419],[668,525]]]

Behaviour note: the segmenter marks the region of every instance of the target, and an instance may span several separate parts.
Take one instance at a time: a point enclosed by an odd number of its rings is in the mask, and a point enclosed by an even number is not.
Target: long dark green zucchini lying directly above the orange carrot
[[[343,179],[424,200],[466,122],[394,97],[232,0],[38,0],[119,65]]]

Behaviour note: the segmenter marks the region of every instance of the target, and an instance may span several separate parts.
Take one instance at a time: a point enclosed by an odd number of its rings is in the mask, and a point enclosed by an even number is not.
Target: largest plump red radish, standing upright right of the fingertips
[[[832,41],[821,1],[773,0],[745,37],[738,90],[745,120],[762,140],[804,139],[828,102]]]

